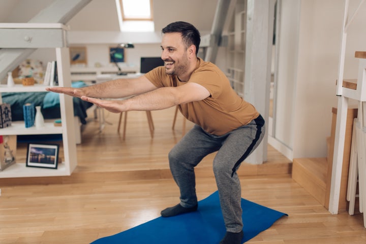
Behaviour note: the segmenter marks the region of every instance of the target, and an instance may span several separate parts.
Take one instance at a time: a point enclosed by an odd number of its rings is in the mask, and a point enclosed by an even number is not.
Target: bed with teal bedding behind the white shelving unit
[[[74,82],[73,87],[84,86],[83,82]],[[12,121],[24,120],[23,104],[33,103],[34,106],[41,106],[41,112],[45,119],[59,119],[59,94],[53,92],[8,92],[2,93],[3,102],[11,106]],[[81,126],[86,124],[86,110],[93,107],[93,103],[73,97],[74,116],[77,128],[76,143],[81,143]]]

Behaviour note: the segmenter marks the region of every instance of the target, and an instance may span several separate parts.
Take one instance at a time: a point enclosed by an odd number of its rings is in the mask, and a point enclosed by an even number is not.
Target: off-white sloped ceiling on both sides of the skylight
[[[0,22],[27,22],[53,0],[0,0]],[[218,0],[153,0],[155,30],[187,21],[200,31],[211,30]],[[115,0],[93,0],[68,24],[72,30],[119,31]]]

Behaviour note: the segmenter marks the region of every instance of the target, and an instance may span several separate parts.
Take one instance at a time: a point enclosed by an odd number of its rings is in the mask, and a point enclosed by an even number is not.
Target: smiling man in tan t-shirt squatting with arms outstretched
[[[261,142],[264,120],[252,104],[235,93],[216,65],[197,57],[200,33],[192,24],[174,22],[162,33],[161,57],[165,65],[142,77],[47,90],[80,97],[114,113],[178,106],[196,125],[169,153],[180,203],[166,208],[161,215],[170,217],[197,210],[194,167],[206,155],[217,152],[213,168],[227,230],[220,243],[241,243],[241,188],[236,171]],[[131,95],[135,96],[126,100],[94,98]]]

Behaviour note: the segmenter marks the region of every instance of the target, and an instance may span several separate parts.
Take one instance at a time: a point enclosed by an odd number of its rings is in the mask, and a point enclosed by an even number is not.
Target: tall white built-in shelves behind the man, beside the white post
[[[244,93],[246,49],[246,0],[236,1],[228,30],[227,77],[232,88],[242,97]]]

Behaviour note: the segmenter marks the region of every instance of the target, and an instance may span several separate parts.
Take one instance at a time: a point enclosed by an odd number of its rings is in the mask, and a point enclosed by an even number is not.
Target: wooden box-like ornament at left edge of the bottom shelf
[[[16,162],[16,135],[0,135],[0,171]]]

